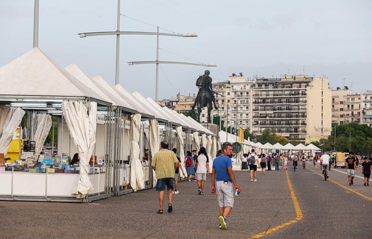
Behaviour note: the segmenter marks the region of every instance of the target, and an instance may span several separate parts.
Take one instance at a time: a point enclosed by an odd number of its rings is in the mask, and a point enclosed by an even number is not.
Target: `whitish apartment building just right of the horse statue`
[[[213,109],[212,119],[214,115],[219,115],[225,127],[251,127],[251,86],[254,82],[254,79],[247,79],[243,73],[233,73],[227,80],[213,81],[218,110]]]

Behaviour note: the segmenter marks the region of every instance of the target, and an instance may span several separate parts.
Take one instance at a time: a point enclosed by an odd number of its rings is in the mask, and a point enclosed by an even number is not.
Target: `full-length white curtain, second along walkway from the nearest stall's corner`
[[[139,126],[141,115],[130,116],[130,186],[134,191],[145,188],[142,163],[139,159]]]

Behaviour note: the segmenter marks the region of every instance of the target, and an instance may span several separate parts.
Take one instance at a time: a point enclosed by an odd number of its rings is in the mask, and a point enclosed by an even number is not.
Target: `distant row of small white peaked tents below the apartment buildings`
[[[238,142],[238,136],[228,133],[226,131],[220,131],[219,136],[221,139],[221,142]],[[251,149],[254,149],[255,152],[263,153],[263,152],[272,152],[275,150],[283,151],[283,152],[289,152],[289,151],[309,151],[311,152],[311,155],[314,155],[315,152],[321,151],[318,147],[316,147],[313,144],[309,144],[305,146],[302,143],[299,143],[298,145],[293,145],[291,143],[287,143],[286,145],[282,145],[280,143],[275,143],[274,145],[270,144],[269,142],[265,144],[261,144],[260,142],[252,142],[249,139],[245,139],[244,142],[240,142],[242,144],[242,152],[243,153],[249,153]]]

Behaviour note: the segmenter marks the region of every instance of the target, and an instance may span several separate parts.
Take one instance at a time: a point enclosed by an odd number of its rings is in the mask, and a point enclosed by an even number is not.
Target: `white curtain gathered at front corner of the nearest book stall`
[[[89,102],[88,106],[89,114],[82,102],[62,102],[62,114],[80,157],[80,175],[77,185],[72,190],[72,195],[77,198],[83,198],[94,189],[88,173],[89,160],[96,143],[97,103]]]

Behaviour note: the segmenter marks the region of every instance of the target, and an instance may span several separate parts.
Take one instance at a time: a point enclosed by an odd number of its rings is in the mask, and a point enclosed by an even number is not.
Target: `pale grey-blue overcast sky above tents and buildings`
[[[62,67],[75,62],[87,75],[115,85],[117,0],[39,0],[39,48]],[[247,78],[305,74],[329,87],[372,90],[371,0],[121,0],[120,30],[186,34],[159,36],[159,100],[197,93],[196,78],[232,73]],[[33,47],[33,0],[0,1],[0,67]],[[120,36],[119,83],[155,99],[156,36]]]

